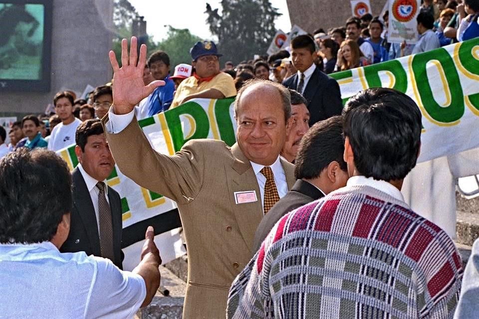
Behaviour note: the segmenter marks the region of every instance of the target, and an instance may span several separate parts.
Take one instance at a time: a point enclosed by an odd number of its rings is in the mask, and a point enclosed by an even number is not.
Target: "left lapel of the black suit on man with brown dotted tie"
[[[72,173],[73,186],[75,187],[73,194],[73,205],[78,211],[83,222],[83,227],[90,240],[90,247],[93,255],[101,256],[100,252],[100,237],[98,235],[98,223],[96,220],[95,209],[91,202],[90,192],[86,188],[85,180],[81,175],[80,170],[75,168]]]

